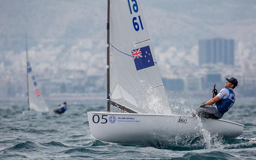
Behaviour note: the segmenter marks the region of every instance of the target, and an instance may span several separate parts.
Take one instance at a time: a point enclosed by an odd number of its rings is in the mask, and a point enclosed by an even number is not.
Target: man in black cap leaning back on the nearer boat
[[[236,101],[236,95],[233,91],[236,88],[238,81],[236,78],[226,78],[227,82],[225,88],[222,88],[218,93],[217,89],[213,89],[214,97],[208,102],[201,104],[200,108],[196,110],[196,114],[203,118],[220,119],[226,113]],[[214,106],[210,107],[207,105]]]

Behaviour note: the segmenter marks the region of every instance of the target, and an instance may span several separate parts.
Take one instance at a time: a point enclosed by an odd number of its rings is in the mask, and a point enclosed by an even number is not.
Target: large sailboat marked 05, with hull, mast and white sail
[[[107,17],[107,111],[87,112],[96,139],[145,144],[202,130],[228,139],[243,133],[239,123],[172,114],[139,0],[108,0]]]

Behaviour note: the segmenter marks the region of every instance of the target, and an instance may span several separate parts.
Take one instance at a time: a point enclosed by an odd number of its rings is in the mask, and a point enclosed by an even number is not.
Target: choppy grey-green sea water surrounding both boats
[[[244,102],[235,103],[223,117],[244,124],[235,140],[203,134],[145,146],[107,143],[92,136],[87,111],[104,111],[103,102],[68,102],[64,114],[49,116],[23,116],[26,102],[1,102],[0,159],[255,159],[256,104],[254,99]],[[59,103],[48,104],[53,110]],[[181,102],[179,108],[188,111],[188,106]]]

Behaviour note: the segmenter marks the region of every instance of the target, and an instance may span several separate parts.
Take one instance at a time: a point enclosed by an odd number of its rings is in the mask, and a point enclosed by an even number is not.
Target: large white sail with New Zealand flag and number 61
[[[111,104],[137,113],[168,106],[139,0],[110,1]]]

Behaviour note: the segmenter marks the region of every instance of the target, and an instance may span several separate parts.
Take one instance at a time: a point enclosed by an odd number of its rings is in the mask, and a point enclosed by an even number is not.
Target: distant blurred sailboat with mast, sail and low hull
[[[28,44],[26,36],[26,59],[27,59],[27,93],[28,93],[28,110],[22,112],[23,115],[48,115],[49,109],[45,103],[42,92],[38,86],[36,78],[32,72],[32,67],[28,61]]]

